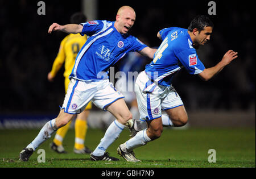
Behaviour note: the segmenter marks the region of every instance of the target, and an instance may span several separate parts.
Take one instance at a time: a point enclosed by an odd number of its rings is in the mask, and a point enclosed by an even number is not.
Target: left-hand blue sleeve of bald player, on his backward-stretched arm
[[[102,30],[104,27],[104,23],[101,20],[93,20],[85,23],[81,23],[82,32],[80,33],[81,36],[84,36],[85,34],[88,36],[92,36],[93,34],[97,34]]]

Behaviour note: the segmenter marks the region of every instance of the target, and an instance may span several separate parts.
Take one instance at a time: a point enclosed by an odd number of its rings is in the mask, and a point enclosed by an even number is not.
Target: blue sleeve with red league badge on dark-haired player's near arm
[[[205,69],[195,49],[184,50],[176,56],[189,74],[199,74]]]

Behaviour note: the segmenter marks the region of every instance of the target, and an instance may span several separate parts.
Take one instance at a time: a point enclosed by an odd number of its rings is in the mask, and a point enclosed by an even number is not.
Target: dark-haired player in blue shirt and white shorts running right
[[[141,119],[147,122],[148,128],[119,145],[117,151],[125,160],[140,161],[135,158],[133,149],[160,138],[163,126],[181,127],[187,123],[183,101],[172,86],[172,79],[179,70],[184,68],[189,74],[197,74],[208,81],[237,58],[237,52],[229,50],[217,65],[205,68],[195,48],[210,40],[212,30],[213,23],[207,16],[201,15],[192,20],[188,30],[170,27],[158,32],[162,44],[154,60],[146,65],[135,83]],[[162,115],[162,110],[166,114]]]

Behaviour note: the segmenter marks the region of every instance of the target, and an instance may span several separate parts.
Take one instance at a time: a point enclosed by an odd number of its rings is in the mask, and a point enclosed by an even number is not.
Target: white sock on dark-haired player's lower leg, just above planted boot
[[[133,138],[126,141],[127,151],[132,151],[134,148],[146,145],[148,141],[151,141],[151,139],[148,138],[146,131],[146,129],[139,131]]]

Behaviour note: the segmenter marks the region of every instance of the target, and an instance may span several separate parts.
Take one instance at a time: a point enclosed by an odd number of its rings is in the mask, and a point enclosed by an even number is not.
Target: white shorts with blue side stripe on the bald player
[[[124,96],[117,91],[109,80],[80,81],[71,78],[65,95],[63,106],[65,113],[79,114],[84,111],[90,101],[97,107],[105,107]]]

